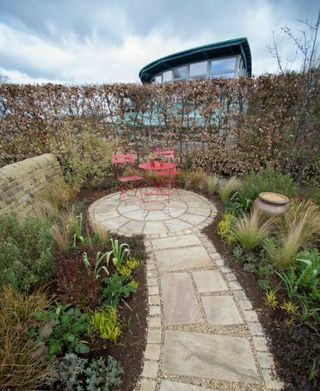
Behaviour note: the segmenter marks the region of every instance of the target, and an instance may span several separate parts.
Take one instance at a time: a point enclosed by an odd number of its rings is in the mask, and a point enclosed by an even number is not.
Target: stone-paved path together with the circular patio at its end
[[[148,337],[137,390],[281,389],[256,312],[201,233],[215,206],[184,190],[169,202],[141,204],[134,195],[127,202],[119,193],[104,197],[90,217],[113,232],[146,236]]]

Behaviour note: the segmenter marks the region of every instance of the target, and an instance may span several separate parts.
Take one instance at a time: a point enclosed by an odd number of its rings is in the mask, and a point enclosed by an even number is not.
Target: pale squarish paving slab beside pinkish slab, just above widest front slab
[[[243,323],[232,296],[207,296],[202,298],[202,302],[209,323],[215,325]]]

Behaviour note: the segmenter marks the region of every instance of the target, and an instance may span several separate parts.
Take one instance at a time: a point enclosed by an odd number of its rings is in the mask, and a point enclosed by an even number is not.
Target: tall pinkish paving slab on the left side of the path
[[[161,287],[167,325],[203,321],[192,281],[187,273],[165,274],[161,280]]]

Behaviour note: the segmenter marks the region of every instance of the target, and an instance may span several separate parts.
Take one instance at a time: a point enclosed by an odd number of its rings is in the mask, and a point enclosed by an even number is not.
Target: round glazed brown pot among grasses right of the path
[[[266,218],[283,216],[287,213],[290,206],[288,197],[278,194],[265,192],[260,193],[255,199],[252,209]]]

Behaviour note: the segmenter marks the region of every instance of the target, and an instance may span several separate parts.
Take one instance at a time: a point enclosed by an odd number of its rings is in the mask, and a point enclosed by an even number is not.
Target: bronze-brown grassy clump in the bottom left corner
[[[0,388],[34,390],[50,379],[50,364],[42,360],[35,341],[29,335],[35,311],[48,307],[42,290],[32,294],[5,287],[0,294]]]

